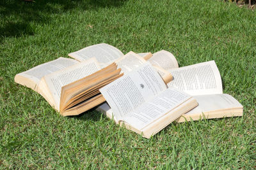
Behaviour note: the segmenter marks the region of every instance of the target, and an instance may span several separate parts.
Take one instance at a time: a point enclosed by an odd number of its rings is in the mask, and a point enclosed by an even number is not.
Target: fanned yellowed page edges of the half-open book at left
[[[62,87],[60,113],[64,116],[77,115],[77,110],[81,106],[83,111],[86,111],[103,103],[105,99],[99,89],[122,76],[120,71],[121,69],[116,69],[116,64],[111,64],[90,76]]]

